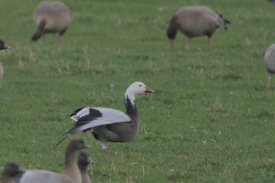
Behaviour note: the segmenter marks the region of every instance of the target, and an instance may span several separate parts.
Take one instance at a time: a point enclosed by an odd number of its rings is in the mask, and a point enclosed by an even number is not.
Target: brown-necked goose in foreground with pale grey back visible
[[[30,169],[17,175],[15,182],[29,183],[81,183],[82,178],[75,160],[76,151],[89,147],[78,138],[72,139],[67,145],[65,152],[65,171],[63,174],[47,170]]]

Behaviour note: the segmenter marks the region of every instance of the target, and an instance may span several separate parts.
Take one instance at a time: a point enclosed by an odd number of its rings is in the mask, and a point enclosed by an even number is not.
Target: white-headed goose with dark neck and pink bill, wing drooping
[[[153,90],[142,82],[134,82],[131,84],[124,95],[126,114],[120,110],[111,108],[78,108],[71,115],[71,118],[76,121],[74,127],[63,134],[59,143],[70,134],[80,131],[85,133],[92,132],[94,138],[100,142],[105,160],[108,161],[107,142],[123,143],[131,141],[137,136],[140,117],[137,106],[135,106],[135,95],[153,92]]]

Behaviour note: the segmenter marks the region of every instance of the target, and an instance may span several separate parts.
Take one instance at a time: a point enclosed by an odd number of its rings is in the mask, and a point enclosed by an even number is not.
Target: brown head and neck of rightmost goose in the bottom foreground
[[[91,160],[91,154],[88,151],[81,151],[78,156],[78,169],[81,173],[82,183],[91,183],[87,171],[88,164],[94,163]]]

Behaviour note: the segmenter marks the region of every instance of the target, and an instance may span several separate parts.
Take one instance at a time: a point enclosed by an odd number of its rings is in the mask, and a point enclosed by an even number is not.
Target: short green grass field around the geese
[[[92,182],[275,182],[274,82],[265,90],[263,55],[275,39],[275,6],[264,0],[65,1],[72,23],[64,41],[47,34],[30,44],[40,1],[1,0],[5,74],[0,88],[0,166],[64,169],[69,114],[78,107],[125,111],[135,81],[155,90],[137,97],[140,133],[129,143],[92,146]],[[232,23],[205,37],[166,27],[178,8],[206,5]],[[0,170],[1,173],[1,170]]]

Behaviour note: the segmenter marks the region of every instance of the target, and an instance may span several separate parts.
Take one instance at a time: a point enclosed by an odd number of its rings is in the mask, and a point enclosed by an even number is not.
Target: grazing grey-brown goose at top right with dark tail
[[[217,11],[204,6],[187,6],[179,9],[170,20],[167,28],[167,36],[170,39],[170,46],[173,47],[177,29],[187,38],[186,49],[189,49],[190,38],[196,36],[208,36],[208,47],[211,47],[211,36],[219,27],[224,27],[230,21],[224,20],[223,15]]]

